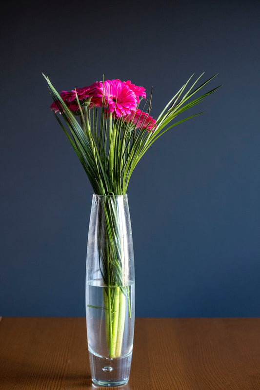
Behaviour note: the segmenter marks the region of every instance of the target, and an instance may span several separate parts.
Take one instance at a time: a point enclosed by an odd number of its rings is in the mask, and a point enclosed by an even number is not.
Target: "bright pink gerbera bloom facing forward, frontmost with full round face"
[[[106,80],[94,94],[94,99],[100,98],[107,105],[107,112],[115,113],[120,118],[136,110],[137,98],[135,93],[120,80]]]

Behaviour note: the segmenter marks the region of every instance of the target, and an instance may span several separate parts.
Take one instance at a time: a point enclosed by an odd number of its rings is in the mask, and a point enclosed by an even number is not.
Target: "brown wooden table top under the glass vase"
[[[1,319],[0,390],[95,388],[84,318]],[[129,383],[113,389],[260,390],[260,318],[137,318]]]

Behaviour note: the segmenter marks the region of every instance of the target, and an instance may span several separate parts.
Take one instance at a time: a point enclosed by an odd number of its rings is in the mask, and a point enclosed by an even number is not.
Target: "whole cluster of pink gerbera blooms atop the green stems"
[[[151,130],[155,127],[155,119],[137,109],[140,98],[146,98],[145,89],[132,84],[130,80],[96,81],[88,87],[76,88],[70,92],[61,91],[60,97],[68,108],[78,114],[79,105],[76,93],[80,103],[87,102],[89,108],[103,105],[106,113],[112,113],[116,119],[122,119],[126,123],[131,122],[137,128]],[[52,103],[51,109],[54,112],[60,111],[57,102]]]

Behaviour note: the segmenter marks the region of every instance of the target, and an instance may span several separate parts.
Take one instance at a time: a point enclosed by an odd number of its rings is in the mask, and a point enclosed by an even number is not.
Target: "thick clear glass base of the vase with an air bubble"
[[[97,386],[121,386],[128,382],[132,353],[127,356],[108,359],[89,351],[92,382]]]

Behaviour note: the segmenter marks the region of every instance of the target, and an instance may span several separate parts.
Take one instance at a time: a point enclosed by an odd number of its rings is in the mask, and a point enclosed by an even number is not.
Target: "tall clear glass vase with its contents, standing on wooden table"
[[[134,337],[134,252],[127,195],[93,195],[86,264],[92,382],[128,382]]]

